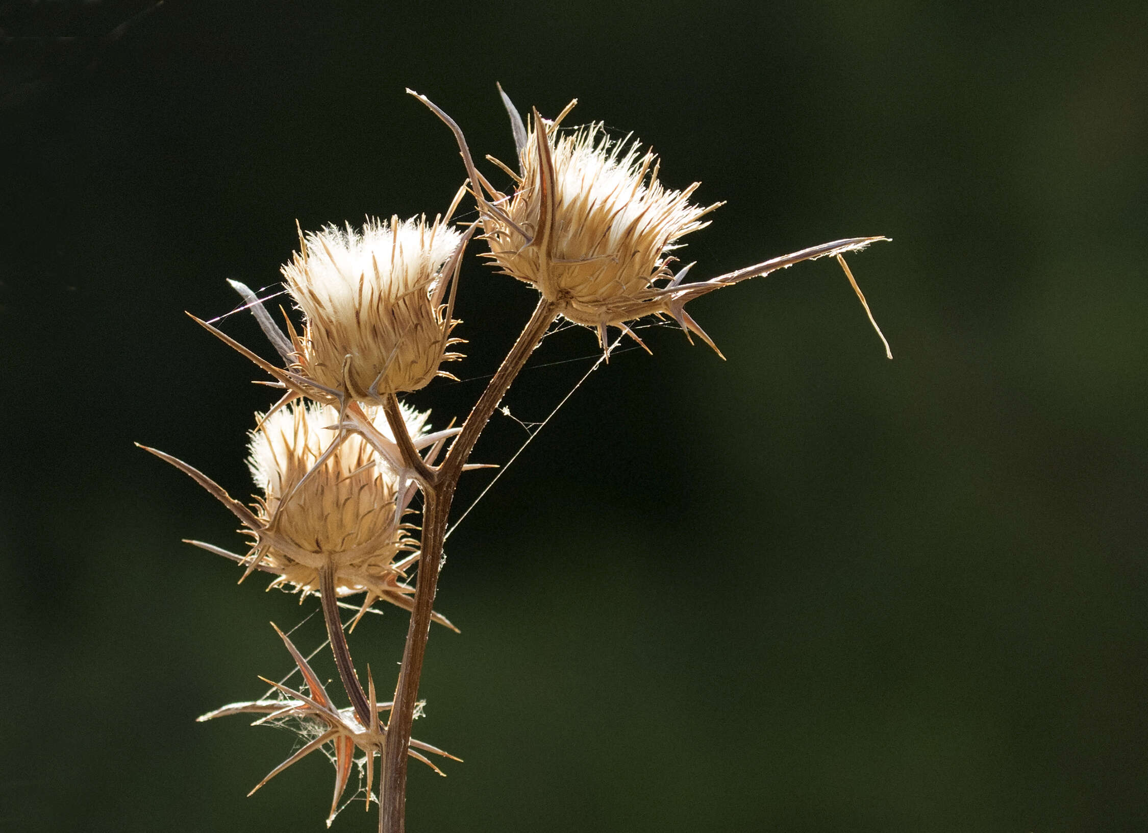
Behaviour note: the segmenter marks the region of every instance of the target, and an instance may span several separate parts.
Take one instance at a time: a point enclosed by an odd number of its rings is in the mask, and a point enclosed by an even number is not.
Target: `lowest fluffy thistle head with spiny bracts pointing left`
[[[428,434],[428,414],[405,406],[402,411],[419,447],[449,433]],[[381,408],[365,415],[374,432],[393,439]],[[245,578],[261,570],[276,576],[272,587],[309,594],[319,593],[320,571],[327,570],[338,596],[366,594],[362,611],[379,599],[411,609],[414,588],[403,579],[418,560],[418,541],[401,519],[414,486],[359,433],[339,431],[338,409],[295,401],[259,419],[248,457],[262,492],[254,512],[186,463],[147,450],[191,475],[243,523],[254,539],[246,556],[189,542],[242,563]],[[435,619],[453,628],[437,614]]]

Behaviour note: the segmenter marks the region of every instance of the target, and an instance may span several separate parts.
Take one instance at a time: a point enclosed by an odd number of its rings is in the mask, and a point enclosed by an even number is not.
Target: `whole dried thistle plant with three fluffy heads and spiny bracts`
[[[488,159],[501,171],[491,176],[509,178],[505,191],[479,171],[459,125],[412,92],[458,142],[465,182],[448,210],[432,222],[393,216],[387,222],[369,219],[360,229],[301,231],[300,248],[282,268],[301,322],[296,325],[285,315],[286,332],[250,290],[232,281],[278,361],[195,318],[282,391],[265,414],[256,415],[250,433],[248,464],[258,491],[251,502],[231,498],[187,463],[147,449],[207,488],[249,539],[245,554],[191,543],[238,562],[240,580],[266,572],[273,576],[272,586],[298,593],[301,601],[319,597],[349,705],[338,704],[307,658],[279,632],[307,692],[264,680],[270,695],[225,705],[200,719],[256,714],[262,715],[256,724],[288,724],[300,732],[305,742],[256,789],[310,753],[326,750],[335,765],[328,825],[357,765],[366,774],[367,808],[372,800],[379,802],[380,831],[403,831],[408,758],[441,772],[424,753],[452,757],[411,738],[421,709],[419,680],[430,625],[453,630],[434,610],[451,503],[463,473],[481,468],[470,463],[474,444],[551,325],[565,319],[592,330],[608,357],[616,345],[610,341],[611,327],[620,331],[619,338],[645,347],[634,322],[672,319],[688,339],[697,335],[720,356],[713,339],[685,311],[688,302],[832,255],[868,313],[841,255],[886,239],[835,240],[707,280],[687,280],[693,264],[678,265],[672,253],[683,245],[682,238],[705,227],[721,203],[691,202],[697,183],[683,191],[666,187],[651,151],[629,138],[612,139],[600,124],[563,132],[574,101],[554,119],[535,109],[523,121],[501,87],[499,93],[518,157],[513,165]],[[456,223],[464,200],[473,201],[475,214],[468,216],[476,219]],[[452,352],[459,344],[451,337],[459,323],[455,298],[460,264],[474,239],[484,244],[480,256],[497,271],[536,290],[537,304],[461,425],[435,432],[429,415],[408,407],[398,394],[449,376],[441,365],[461,357]],[[890,355],[887,344],[885,348]],[[414,511],[418,494],[421,509]],[[356,597],[355,614],[344,623],[340,608],[347,602],[340,600],[348,597]],[[346,633],[377,602],[410,612],[395,694],[388,702],[377,701],[370,670],[364,688]]]

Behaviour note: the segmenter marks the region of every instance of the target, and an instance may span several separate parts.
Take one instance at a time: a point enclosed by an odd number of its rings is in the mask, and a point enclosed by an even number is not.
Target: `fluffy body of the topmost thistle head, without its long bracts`
[[[657,287],[674,277],[669,252],[721,203],[690,202],[699,183],[665,187],[657,156],[637,140],[612,140],[600,123],[559,134],[560,118],[535,114],[518,187],[503,213],[483,215],[488,256],[579,324],[620,325],[657,311]]]

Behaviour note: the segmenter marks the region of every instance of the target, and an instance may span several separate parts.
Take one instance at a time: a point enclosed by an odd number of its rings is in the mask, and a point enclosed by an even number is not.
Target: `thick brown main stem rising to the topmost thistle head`
[[[502,367],[495,373],[482,396],[471,409],[463,431],[455,438],[447,458],[439,466],[433,487],[424,489],[426,503],[422,509],[422,554],[414,586],[414,609],[406,631],[406,647],[403,649],[403,665],[398,672],[395,689],[395,705],[387,724],[387,740],[382,753],[382,773],[379,784],[379,830],[381,833],[403,833],[406,808],[406,749],[411,742],[411,724],[414,722],[414,703],[419,695],[419,678],[422,676],[422,658],[426,656],[427,637],[430,631],[430,614],[439,570],[442,566],[442,543],[447,534],[450,504],[455,487],[463,473],[463,465],[471,455],[474,444],[486,427],[490,415],[518,376],[526,360],[557,317],[557,304],[538,299],[534,315],[518,337]]]

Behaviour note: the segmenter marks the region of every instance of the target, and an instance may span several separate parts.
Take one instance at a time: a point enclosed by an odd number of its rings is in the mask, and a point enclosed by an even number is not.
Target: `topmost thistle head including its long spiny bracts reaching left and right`
[[[553,121],[533,110],[528,130],[502,93],[519,159],[515,172],[488,156],[514,180],[513,193],[504,194],[475,168],[458,124],[425,95],[408,92],[429,107],[458,140],[490,244],[487,256],[507,275],[535,285],[557,313],[595,327],[603,347],[607,326],[621,327],[642,344],[627,322],[665,315],[687,335],[697,334],[718,350],[685,311],[688,301],[801,261],[854,252],[885,239],[835,240],[709,280],[683,283],[693,264],[675,273],[670,264],[676,259],[669,253],[681,246],[682,237],[707,225],[701,217],[722,205],[701,208],[691,203],[698,183],[684,191],[666,188],[658,180],[653,153],[629,138],[611,140],[600,124],[559,134],[558,125],[576,99]]]

